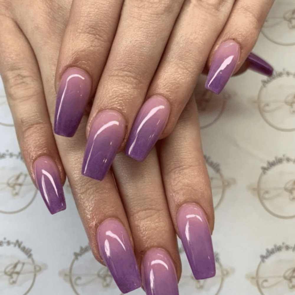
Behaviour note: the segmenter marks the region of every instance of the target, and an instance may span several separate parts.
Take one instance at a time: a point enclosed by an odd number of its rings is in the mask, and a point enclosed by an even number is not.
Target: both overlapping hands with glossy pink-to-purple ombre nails
[[[272,3],[0,0],[0,73],[28,170],[51,213],[65,209],[67,175],[94,256],[123,293],[178,294],[176,233],[195,278],[214,276],[211,188],[189,98],[207,60],[206,86],[222,90]],[[83,158],[83,174],[103,181],[81,175]]]

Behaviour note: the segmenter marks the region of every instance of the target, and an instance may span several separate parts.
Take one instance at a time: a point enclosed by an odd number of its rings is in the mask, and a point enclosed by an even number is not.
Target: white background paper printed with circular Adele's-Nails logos
[[[182,253],[181,294],[295,293],[295,219],[284,218],[295,215],[295,164],[291,161],[295,159],[294,9],[294,0],[277,0],[253,50],[278,72],[273,81],[262,83],[265,77],[248,71],[232,78],[219,97],[196,90],[200,123],[207,125],[201,130],[204,153],[215,170],[220,168],[216,173],[208,166],[214,204],[219,203],[212,236],[217,276],[195,281]],[[68,184],[64,187],[66,211],[51,216],[39,192],[35,195],[18,158],[19,147],[10,124],[1,85],[0,294],[119,295],[91,252],[73,261],[74,252],[88,242]],[[261,175],[262,166],[283,155],[282,163]],[[19,212],[7,213],[12,211]],[[32,253],[34,261],[8,240],[22,242],[23,251],[30,248],[27,255]],[[274,245],[281,248],[276,247],[262,263],[260,255],[266,255],[266,249],[271,251]]]

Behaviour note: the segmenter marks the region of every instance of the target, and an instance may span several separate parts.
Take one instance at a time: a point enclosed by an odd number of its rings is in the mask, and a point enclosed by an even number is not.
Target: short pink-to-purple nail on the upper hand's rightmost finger
[[[205,87],[219,94],[235,71],[239,58],[239,44],[233,40],[221,43],[214,54]]]

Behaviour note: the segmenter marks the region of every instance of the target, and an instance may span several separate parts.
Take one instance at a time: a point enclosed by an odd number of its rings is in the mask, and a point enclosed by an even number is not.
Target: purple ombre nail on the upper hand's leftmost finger
[[[91,91],[91,78],[79,68],[69,68],[60,80],[55,105],[54,132],[72,137],[83,117]]]

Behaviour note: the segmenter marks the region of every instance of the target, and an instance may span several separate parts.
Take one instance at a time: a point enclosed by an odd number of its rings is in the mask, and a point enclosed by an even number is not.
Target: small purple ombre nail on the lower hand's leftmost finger
[[[42,156],[34,163],[34,173],[38,189],[51,214],[65,210],[65,195],[58,168],[54,161]]]

